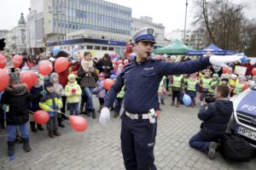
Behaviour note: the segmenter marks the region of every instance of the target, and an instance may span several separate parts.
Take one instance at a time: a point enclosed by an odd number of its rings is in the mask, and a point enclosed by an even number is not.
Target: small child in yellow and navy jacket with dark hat
[[[52,82],[44,82],[44,90],[46,94],[40,100],[39,107],[44,111],[49,112],[49,121],[46,123],[49,138],[61,136],[57,126],[57,111],[61,110],[62,101],[61,96],[55,93],[54,84]]]

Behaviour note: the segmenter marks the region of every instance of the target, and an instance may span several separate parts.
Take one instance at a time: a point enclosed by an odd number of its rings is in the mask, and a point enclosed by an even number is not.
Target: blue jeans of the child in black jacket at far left
[[[26,139],[28,138],[28,128],[27,123],[24,123],[22,125],[7,125],[7,140],[12,142],[16,139],[16,131],[19,127],[21,138]]]

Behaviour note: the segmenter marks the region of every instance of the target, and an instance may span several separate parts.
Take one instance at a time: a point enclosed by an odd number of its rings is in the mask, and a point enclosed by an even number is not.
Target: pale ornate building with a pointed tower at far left
[[[26,37],[26,20],[21,13],[18,26],[9,31],[7,34],[5,50],[12,54],[19,54],[26,51]]]

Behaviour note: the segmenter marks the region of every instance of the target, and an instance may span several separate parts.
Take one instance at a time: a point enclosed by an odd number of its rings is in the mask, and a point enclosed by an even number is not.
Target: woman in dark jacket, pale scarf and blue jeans
[[[96,71],[91,59],[90,52],[84,52],[84,59],[81,60],[81,66],[78,71],[78,76],[81,77],[80,87],[83,93],[87,96],[86,115],[92,115],[92,118],[96,118],[96,111],[92,101],[93,89],[96,88]]]

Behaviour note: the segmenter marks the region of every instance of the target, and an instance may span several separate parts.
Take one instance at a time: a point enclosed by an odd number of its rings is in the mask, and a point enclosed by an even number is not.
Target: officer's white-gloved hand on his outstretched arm
[[[228,67],[227,63],[233,63],[246,58],[244,54],[235,54],[235,55],[212,55],[210,56],[210,63],[212,65],[218,65],[222,67]]]

